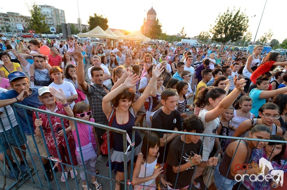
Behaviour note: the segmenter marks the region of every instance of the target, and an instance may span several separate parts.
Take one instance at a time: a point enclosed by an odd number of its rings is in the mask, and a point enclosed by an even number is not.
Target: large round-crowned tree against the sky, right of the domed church
[[[240,8],[233,11],[229,11],[229,8],[222,15],[219,13],[216,18],[216,24],[210,30],[213,34],[212,40],[216,42],[222,42],[225,45],[226,42],[236,42],[242,38],[248,28],[248,16],[245,13],[240,12]]]

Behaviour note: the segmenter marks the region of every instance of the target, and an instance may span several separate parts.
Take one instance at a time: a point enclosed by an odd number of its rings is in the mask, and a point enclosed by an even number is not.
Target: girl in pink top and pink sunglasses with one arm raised
[[[77,102],[74,105],[74,108],[72,111],[71,107],[68,106],[67,100],[65,98],[65,93],[62,91],[61,88],[59,90],[60,91],[57,91],[53,87],[50,88],[51,94],[53,94],[56,98],[59,99],[60,102],[62,102],[64,109],[66,113],[68,114],[68,116],[77,117],[79,119],[94,122],[94,119],[92,118],[91,107],[88,104],[86,104],[85,102]],[[76,150],[76,155],[77,155],[77,161],[80,167],[83,169],[84,168],[83,165],[85,165],[86,170],[90,169],[91,173],[93,173],[91,174],[91,178],[92,178],[92,183],[96,186],[96,190],[101,190],[102,185],[100,183],[97,183],[97,179],[96,179],[96,170],[97,170],[96,162],[97,162],[97,156],[100,154],[100,145],[99,145],[99,141],[97,138],[95,128],[90,125],[77,122],[77,131],[76,131],[74,121],[69,120],[69,122],[71,125],[71,130],[72,130],[76,145],[79,146],[79,140],[80,140],[80,146],[82,148],[83,146],[88,145],[90,142],[92,143],[94,147],[94,151],[96,153],[95,157],[92,157],[89,160],[83,161],[81,155],[79,155],[77,150]],[[79,139],[77,137],[77,133],[79,134]],[[80,174],[81,174],[81,179],[83,181],[82,187],[84,190],[87,190],[88,188],[87,188],[85,172],[81,170]]]

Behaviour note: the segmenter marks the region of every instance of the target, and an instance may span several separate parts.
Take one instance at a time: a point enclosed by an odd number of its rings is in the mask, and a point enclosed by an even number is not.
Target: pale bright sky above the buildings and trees
[[[66,22],[77,23],[78,7],[77,0],[56,1],[56,0],[37,0],[37,4],[47,4],[58,9],[65,10]],[[249,28],[252,33],[252,41],[260,21],[265,0],[241,0],[241,1],[87,1],[79,0],[79,12],[82,24],[88,24],[89,16],[94,13],[102,14],[107,17],[110,28],[123,30],[140,30],[143,24],[146,12],[153,6],[157,13],[157,18],[162,24],[162,31],[167,34],[177,34],[181,28],[185,28],[187,36],[193,37],[198,35],[202,30],[209,30],[215,24],[216,17],[219,13],[224,13],[229,7],[230,10],[241,8],[249,16]],[[92,2],[92,3],[91,3]],[[256,40],[272,30],[274,35],[272,39],[277,39],[281,43],[286,37],[286,3],[279,0],[268,0],[262,21],[257,33]],[[8,1],[1,2],[0,12],[16,12],[25,16],[30,16],[28,5],[33,1],[20,1],[11,6]],[[256,15],[254,17],[254,15]],[[276,22],[275,22],[276,21]],[[284,29],[284,30],[283,30]]]

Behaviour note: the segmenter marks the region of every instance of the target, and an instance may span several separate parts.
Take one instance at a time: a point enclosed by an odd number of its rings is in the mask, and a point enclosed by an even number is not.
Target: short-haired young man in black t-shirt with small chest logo
[[[165,89],[162,91],[161,103],[163,107],[156,111],[152,117],[152,128],[182,131],[181,117],[179,111],[175,109],[178,103],[178,97],[175,91],[172,89]],[[164,133],[162,131],[154,132],[158,135],[160,140],[158,163],[162,164],[166,161],[171,141],[178,136],[178,133]]]

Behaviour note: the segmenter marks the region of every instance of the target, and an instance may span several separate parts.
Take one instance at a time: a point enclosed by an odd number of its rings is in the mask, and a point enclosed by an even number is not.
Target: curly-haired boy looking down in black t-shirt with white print
[[[203,133],[204,124],[201,119],[191,115],[184,120],[182,128],[184,132]],[[184,134],[172,141],[167,155],[166,172],[172,189],[187,190],[195,165],[204,168],[216,166],[218,163],[217,157],[211,157],[206,162],[202,161],[201,157],[202,141],[199,135]]]

